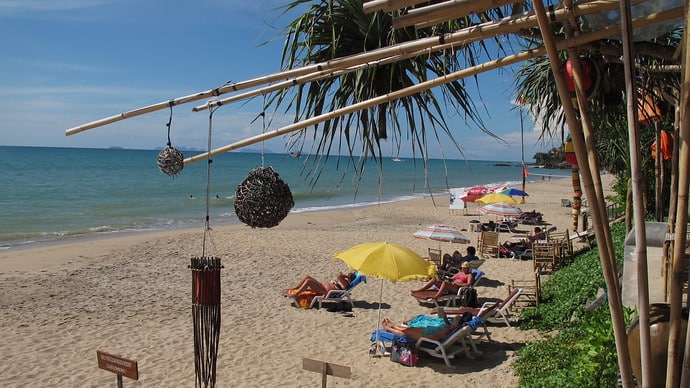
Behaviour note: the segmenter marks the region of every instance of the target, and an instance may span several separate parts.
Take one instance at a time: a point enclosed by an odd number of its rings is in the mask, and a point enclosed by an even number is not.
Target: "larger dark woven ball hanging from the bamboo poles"
[[[272,228],[295,206],[290,187],[271,167],[256,167],[235,191],[235,214],[252,228]]]

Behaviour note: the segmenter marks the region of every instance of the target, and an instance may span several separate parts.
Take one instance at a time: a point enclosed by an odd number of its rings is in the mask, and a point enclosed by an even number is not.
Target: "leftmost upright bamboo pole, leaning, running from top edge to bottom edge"
[[[553,33],[551,31],[551,25],[548,17],[546,16],[546,11],[544,5],[541,1],[534,2],[534,9],[539,18],[539,28],[541,30],[542,39],[544,41],[544,46],[546,47],[551,62],[551,70],[554,74],[556,81],[558,95],[561,99],[561,105],[566,116],[566,122],[570,128],[571,138],[573,140],[573,147],[575,148],[575,154],[577,155],[578,162],[584,162],[586,168],[582,169],[582,178],[585,182],[585,189],[587,191],[587,197],[592,199],[596,198],[595,206],[603,205],[603,198],[598,198],[597,193],[593,189],[592,176],[589,169],[589,161],[586,153],[585,141],[582,133],[578,130],[580,128],[579,122],[577,120],[577,115],[575,109],[570,102],[570,96],[566,86],[565,79],[561,73],[561,67],[558,59],[558,48],[553,39]],[[577,39],[574,37],[573,39]],[[605,233],[603,231],[604,225],[608,225],[608,219],[601,219],[601,212],[592,212],[594,231],[597,236],[597,241],[601,242],[605,238]],[[599,249],[599,256],[601,259],[601,266],[604,272],[604,279],[607,284],[607,292],[609,296],[609,309],[611,312],[611,321],[613,323],[613,332],[616,339],[616,349],[618,353],[618,365],[621,370],[621,379],[624,387],[632,386],[632,368],[630,366],[630,356],[627,346],[627,338],[625,335],[625,322],[623,320],[623,308],[620,297],[620,290],[614,288],[616,281],[615,270],[611,268],[611,261],[607,257],[609,252],[606,249],[606,244],[610,242],[605,242],[602,246],[601,243],[597,244]]]

